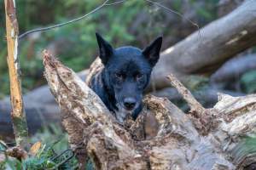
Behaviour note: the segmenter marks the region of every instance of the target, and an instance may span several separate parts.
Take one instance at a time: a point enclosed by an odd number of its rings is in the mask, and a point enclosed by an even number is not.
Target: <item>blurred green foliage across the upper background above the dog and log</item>
[[[109,1],[113,3],[114,1]],[[20,33],[34,28],[65,22],[90,12],[103,3],[102,0],[20,0],[17,1]],[[135,45],[143,48],[158,35],[164,35],[167,48],[196,31],[196,27],[217,18],[218,0],[159,1],[168,8],[183,14],[170,13],[146,1],[127,0],[107,6],[84,20],[54,30],[32,33],[20,40],[20,67],[24,92],[44,84],[43,65],[40,54],[49,48],[65,65],[81,71],[90,65],[97,55],[95,32],[112,42],[114,47]],[[3,11],[3,5],[0,7]],[[6,64],[6,41],[4,38],[4,13],[0,14],[0,98],[9,94],[9,77]]]

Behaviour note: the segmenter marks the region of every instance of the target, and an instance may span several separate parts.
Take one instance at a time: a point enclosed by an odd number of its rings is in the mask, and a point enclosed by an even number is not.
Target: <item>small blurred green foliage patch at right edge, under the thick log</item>
[[[241,89],[247,94],[256,92],[256,71],[248,71],[241,76]]]

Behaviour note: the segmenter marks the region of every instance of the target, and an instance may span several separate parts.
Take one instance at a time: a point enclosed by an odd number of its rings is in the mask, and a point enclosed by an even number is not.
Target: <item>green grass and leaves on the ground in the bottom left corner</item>
[[[11,170],[44,170],[44,169],[77,169],[78,161],[73,152],[68,150],[67,133],[63,133],[60,126],[44,127],[30,139],[31,143],[40,141],[43,145],[35,156],[28,156],[26,160],[19,161],[7,157],[0,164],[0,169]],[[0,143],[0,150],[6,146]],[[68,159],[71,157],[71,159]]]

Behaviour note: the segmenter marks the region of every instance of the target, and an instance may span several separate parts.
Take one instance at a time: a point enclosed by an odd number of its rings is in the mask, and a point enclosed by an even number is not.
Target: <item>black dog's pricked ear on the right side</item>
[[[157,63],[160,57],[162,39],[163,37],[157,37],[153,42],[143,49],[143,55],[146,59],[148,59],[148,62],[152,67]]]

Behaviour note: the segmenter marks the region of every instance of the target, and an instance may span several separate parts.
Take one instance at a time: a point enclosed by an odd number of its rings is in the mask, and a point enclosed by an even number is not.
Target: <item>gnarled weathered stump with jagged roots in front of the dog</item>
[[[189,103],[184,114],[168,99],[148,96],[148,111],[136,122],[115,121],[102,100],[69,68],[44,52],[45,77],[61,107],[69,142],[81,164],[90,157],[96,169],[235,169],[255,162],[241,151],[242,137],[255,133],[256,95],[220,94],[212,109],[205,109],[188,89],[169,81]],[[169,83],[170,83],[169,82]],[[143,122],[151,112],[160,127],[145,139]]]

